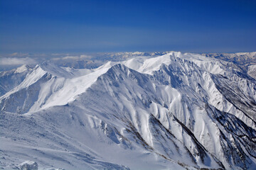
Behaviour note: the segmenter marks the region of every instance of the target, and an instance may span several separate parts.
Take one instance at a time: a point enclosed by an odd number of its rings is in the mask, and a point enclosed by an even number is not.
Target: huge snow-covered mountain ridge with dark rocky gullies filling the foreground
[[[0,97],[4,169],[255,169],[256,86],[171,52],[97,69],[37,65]]]

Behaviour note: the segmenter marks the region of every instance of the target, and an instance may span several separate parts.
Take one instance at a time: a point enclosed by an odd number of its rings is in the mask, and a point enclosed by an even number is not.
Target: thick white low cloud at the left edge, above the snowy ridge
[[[21,65],[21,64],[36,64],[36,60],[33,60],[29,57],[1,57],[0,58],[0,65]]]

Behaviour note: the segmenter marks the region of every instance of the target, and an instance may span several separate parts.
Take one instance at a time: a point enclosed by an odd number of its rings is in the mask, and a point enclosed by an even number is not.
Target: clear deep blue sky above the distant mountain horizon
[[[0,52],[166,50],[256,51],[256,1],[0,1]]]

